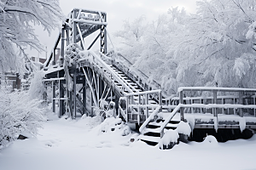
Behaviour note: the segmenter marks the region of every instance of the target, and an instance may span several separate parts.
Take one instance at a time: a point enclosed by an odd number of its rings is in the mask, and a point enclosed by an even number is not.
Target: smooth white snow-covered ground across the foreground
[[[96,118],[45,122],[37,138],[16,140],[0,150],[0,169],[256,169],[256,135],[226,143],[210,136],[202,143],[159,150],[129,142],[121,130],[102,133]],[[211,141],[211,143],[209,142]]]

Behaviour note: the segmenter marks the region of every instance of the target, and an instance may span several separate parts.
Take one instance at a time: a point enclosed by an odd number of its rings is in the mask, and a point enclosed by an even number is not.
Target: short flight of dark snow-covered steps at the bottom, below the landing
[[[164,120],[157,120],[155,122],[149,122],[148,126],[143,129],[143,132],[140,134],[138,139],[142,140],[143,142],[149,144],[149,145],[156,145],[160,142],[161,139],[161,132],[160,132],[160,126],[164,122]],[[164,131],[168,129],[175,130],[177,127],[177,124],[180,121],[170,121]]]

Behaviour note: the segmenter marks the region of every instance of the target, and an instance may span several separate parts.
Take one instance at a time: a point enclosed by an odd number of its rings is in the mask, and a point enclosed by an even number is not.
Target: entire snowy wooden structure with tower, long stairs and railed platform
[[[181,121],[193,129],[256,129],[256,89],[185,87],[178,89],[177,97],[168,97],[159,83],[148,84],[143,72],[131,70],[124,56],[107,53],[107,26],[105,12],[81,8],[73,9],[63,23],[44,65],[44,84],[52,91],[52,109],[60,117],[95,116],[113,101],[117,115],[136,123],[140,139],[151,144]],[[92,42],[87,40],[95,35]],[[90,49],[97,41],[98,54]],[[61,58],[56,61],[58,45]]]

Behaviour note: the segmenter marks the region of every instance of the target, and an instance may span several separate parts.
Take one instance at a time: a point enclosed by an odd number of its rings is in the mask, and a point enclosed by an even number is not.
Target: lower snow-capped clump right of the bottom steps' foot
[[[179,135],[177,133],[177,130],[168,130],[164,134],[163,138],[160,139],[160,149],[172,149],[172,147],[177,144],[177,139],[179,138]]]

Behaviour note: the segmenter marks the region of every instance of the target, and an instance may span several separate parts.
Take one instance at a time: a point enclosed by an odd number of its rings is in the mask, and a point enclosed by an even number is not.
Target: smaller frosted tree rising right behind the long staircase
[[[173,80],[176,79],[179,59],[173,58],[173,44],[176,42],[174,37],[183,31],[184,20],[187,17],[184,8],[170,8],[168,14],[161,14],[157,20],[148,22],[145,26],[141,26],[141,20],[132,21],[133,26],[144,29],[139,42],[131,36],[131,27],[126,24],[125,30],[117,34],[129,34],[123,36],[125,46],[120,52],[127,59],[132,59],[134,67],[160,82],[167,94],[173,94],[177,89],[177,82]]]

